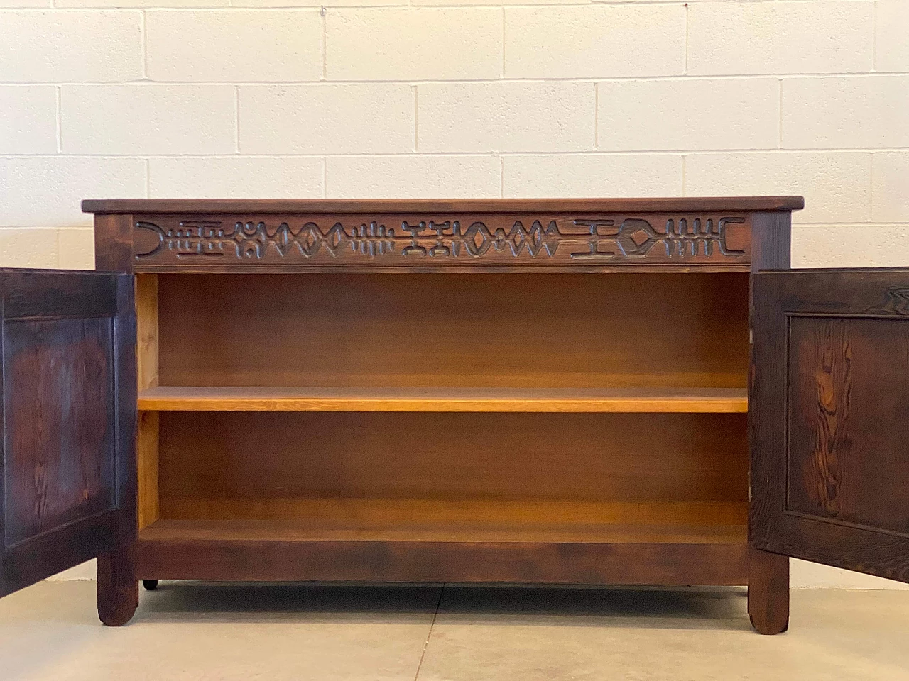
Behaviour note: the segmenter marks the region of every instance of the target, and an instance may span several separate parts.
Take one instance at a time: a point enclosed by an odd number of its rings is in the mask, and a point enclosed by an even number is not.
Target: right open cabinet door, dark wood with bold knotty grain
[[[752,294],[752,546],[909,582],[909,270]]]

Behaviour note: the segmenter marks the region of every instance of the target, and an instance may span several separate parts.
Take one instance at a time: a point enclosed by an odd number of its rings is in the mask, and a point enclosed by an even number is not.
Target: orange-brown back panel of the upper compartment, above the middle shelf
[[[165,386],[746,384],[747,274],[167,274],[158,289]]]

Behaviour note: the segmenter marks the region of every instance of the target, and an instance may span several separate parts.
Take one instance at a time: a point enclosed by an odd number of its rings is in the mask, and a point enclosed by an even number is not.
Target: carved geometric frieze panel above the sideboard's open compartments
[[[342,266],[747,267],[748,213],[136,216],[135,271]]]

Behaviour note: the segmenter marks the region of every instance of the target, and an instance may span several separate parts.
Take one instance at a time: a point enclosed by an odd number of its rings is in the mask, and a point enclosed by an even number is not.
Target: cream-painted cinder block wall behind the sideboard
[[[0,266],[91,268],[86,197],[779,193],[909,265],[909,0],[0,0]]]

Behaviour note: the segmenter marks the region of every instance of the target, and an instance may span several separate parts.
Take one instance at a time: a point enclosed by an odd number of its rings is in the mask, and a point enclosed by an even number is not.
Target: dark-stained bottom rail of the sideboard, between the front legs
[[[159,520],[136,543],[140,577],[369,582],[519,582],[561,584],[743,584],[744,528],[724,534],[622,541],[445,541],[313,539],[271,524]],[[709,539],[704,541],[704,538]]]

